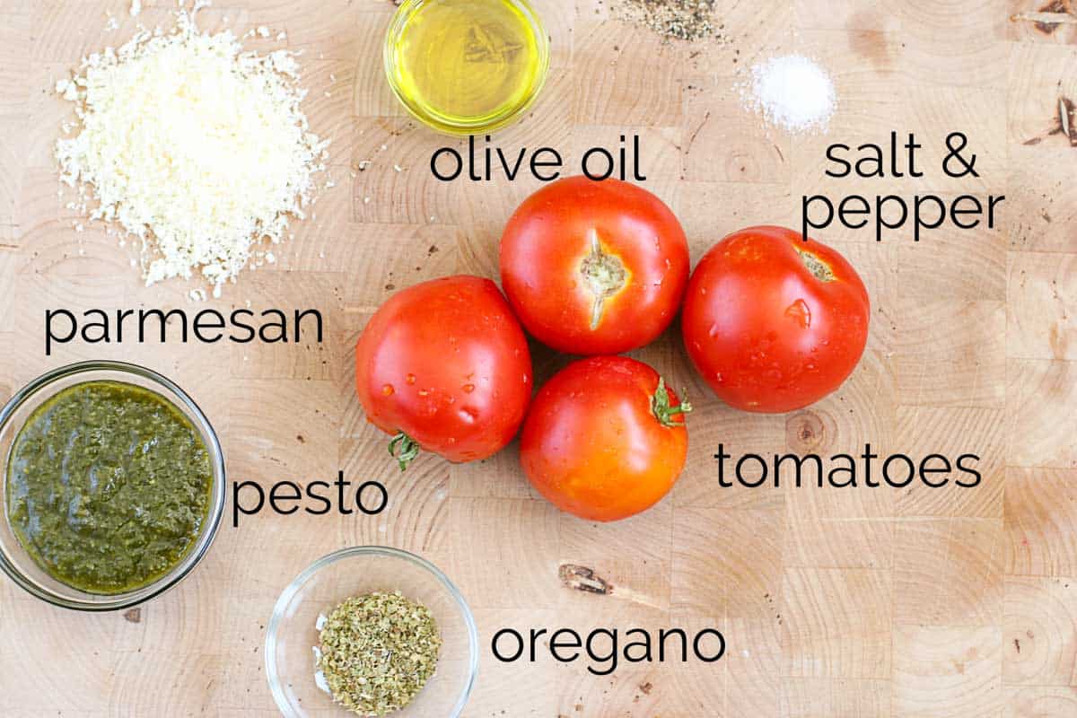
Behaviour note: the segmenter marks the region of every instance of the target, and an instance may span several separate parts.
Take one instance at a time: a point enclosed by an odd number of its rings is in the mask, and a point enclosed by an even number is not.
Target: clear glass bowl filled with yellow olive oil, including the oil
[[[480,135],[534,101],[549,38],[526,0],[404,0],[384,45],[389,86],[436,130]]]

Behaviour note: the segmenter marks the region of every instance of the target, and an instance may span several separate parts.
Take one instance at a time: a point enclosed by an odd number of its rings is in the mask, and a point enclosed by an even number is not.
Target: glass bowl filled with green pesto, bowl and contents
[[[176,586],[225,502],[209,420],[159,374],[82,362],[0,409],[0,568],[55,606],[120,610]]]

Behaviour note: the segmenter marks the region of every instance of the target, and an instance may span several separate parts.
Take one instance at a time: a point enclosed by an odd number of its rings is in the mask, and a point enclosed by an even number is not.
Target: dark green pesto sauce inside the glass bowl
[[[48,575],[125,593],[192,549],[213,473],[201,435],[158,394],[115,381],[62,390],[27,420],[8,463],[8,521]]]

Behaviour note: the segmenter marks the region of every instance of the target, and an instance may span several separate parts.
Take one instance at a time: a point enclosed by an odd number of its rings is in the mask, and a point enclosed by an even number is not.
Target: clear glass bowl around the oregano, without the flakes
[[[442,632],[437,671],[415,700],[392,718],[457,718],[478,674],[478,631],[456,586],[432,563],[398,549],[360,546],[323,557],[277,600],[266,632],[266,678],[286,718],[350,716],[314,682],[319,616],[346,599],[400,591],[426,606]]]

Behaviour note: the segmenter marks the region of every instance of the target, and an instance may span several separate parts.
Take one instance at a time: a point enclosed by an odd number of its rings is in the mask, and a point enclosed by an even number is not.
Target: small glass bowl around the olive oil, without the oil
[[[390,89],[393,90],[393,95],[396,96],[396,99],[400,100],[401,104],[404,105],[412,117],[445,135],[460,137],[485,135],[502,129],[516,122],[534,103],[535,98],[542,91],[543,85],[546,84],[546,75],[549,72],[549,36],[546,33],[542,18],[538,17],[538,14],[528,3],[528,0],[504,0],[506,4],[510,5],[527,19],[528,29],[534,39],[538,52],[537,75],[528,88],[527,94],[518,102],[505,108],[502,112],[481,117],[458,117],[437,112],[433,108],[428,110],[421,102],[409,98],[407,93],[402,88],[404,80],[402,79],[403,70],[401,62],[397,58],[397,46],[408,30],[408,24],[431,1],[403,0],[393,14],[389,29],[386,31],[384,44],[382,45],[382,62],[386,69],[386,79],[389,82]]]

